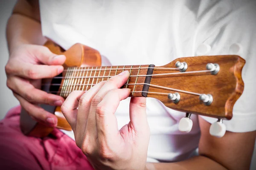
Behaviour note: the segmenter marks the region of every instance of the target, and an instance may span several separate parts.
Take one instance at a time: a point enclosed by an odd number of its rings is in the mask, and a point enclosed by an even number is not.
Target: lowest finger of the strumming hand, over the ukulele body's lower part
[[[20,101],[20,105],[23,107],[23,109],[25,109],[26,112],[28,112],[28,114],[32,116],[32,118],[35,118],[35,120],[37,120],[38,122],[46,124],[49,127],[56,127],[58,119],[55,115],[45,111],[43,108],[35,104],[30,104],[17,93],[13,94],[18,99],[18,101]]]

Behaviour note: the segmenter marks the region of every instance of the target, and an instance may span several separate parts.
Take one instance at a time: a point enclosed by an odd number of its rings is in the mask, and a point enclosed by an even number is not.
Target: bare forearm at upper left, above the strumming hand
[[[6,28],[9,52],[21,44],[45,43],[46,38],[42,35],[40,17],[38,17],[39,11],[35,8],[26,0],[20,0],[15,5]]]

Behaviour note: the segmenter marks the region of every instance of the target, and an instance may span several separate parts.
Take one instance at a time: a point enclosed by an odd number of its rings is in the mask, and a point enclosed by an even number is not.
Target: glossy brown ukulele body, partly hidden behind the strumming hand
[[[52,41],[47,41],[44,46],[48,47],[51,52],[57,55],[63,54],[66,56],[64,68],[70,66],[101,66],[100,53],[97,50],[90,48],[88,46],[84,46],[80,43],[76,43],[67,51],[65,51]],[[64,77],[65,75],[63,74],[65,73],[63,72],[59,76]],[[44,86],[42,90],[49,92],[50,84],[52,83],[53,79],[45,79],[42,81],[44,82],[44,84],[49,84],[49,86]],[[57,81],[60,81],[58,82],[59,84],[63,83],[61,82],[63,81],[61,79],[57,79]],[[57,87],[57,89],[55,89],[55,91],[59,91],[59,86]],[[39,106],[57,116],[57,128],[64,130],[72,130],[64,116],[61,116],[61,107],[55,107],[46,104],[40,104]],[[22,108],[20,112],[20,129],[25,135],[42,138],[49,135],[49,133],[51,133],[54,128],[38,123],[26,112],[25,109]]]

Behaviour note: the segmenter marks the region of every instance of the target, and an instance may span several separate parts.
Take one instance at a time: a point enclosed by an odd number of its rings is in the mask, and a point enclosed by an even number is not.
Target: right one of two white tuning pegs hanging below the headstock
[[[226,133],[226,126],[223,123],[222,119],[218,119],[218,121],[214,122],[210,126],[210,134],[217,138],[221,138]]]

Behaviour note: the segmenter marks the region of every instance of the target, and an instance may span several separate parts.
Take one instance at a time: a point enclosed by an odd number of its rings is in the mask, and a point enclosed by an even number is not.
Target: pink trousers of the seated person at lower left
[[[20,106],[0,121],[0,170],[93,170],[75,141],[55,129],[45,138],[23,135]]]

